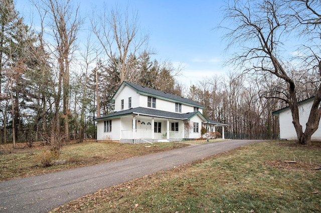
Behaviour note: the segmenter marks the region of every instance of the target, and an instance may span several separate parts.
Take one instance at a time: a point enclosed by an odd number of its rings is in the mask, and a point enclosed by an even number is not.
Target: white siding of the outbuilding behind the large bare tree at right
[[[305,130],[305,127],[306,127],[305,124],[310,114],[312,102],[313,100],[299,105],[299,117],[300,117],[299,120],[300,120],[300,124],[302,125],[303,131]],[[279,121],[280,121],[280,138],[281,139],[288,139],[288,140],[297,139],[292,120],[293,119],[292,119],[292,114],[290,109],[280,112]],[[314,134],[312,134],[311,140],[321,140],[321,122],[319,123],[317,130],[314,132]]]

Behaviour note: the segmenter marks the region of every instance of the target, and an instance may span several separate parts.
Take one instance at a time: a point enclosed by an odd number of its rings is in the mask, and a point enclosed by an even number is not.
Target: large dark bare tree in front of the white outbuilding
[[[285,89],[278,90],[278,87],[273,87],[272,90],[265,93],[265,96],[282,99],[289,105],[298,143],[302,144],[310,144],[311,135],[319,123],[321,86],[319,80],[313,82],[316,88],[313,92],[315,98],[303,132],[299,122],[298,82],[293,76],[301,76],[304,73],[307,79],[313,79],[316,74],[319,79],[321,75],[319,38],[317,40],[315,37],[315,32],[319,33],[320,26],[317,21],[320,17],[318,15],[321,7],[319,2],[319,0],[231,0],[225,9],[224,21],[226,22],[222,22],[222,24],[229,24],[228,27],[225,27],[229,30],[226,34],[226,39],[230,42],[228,48],[237,44],[237,48],[240,49],[230,60],[232,64],[244,69],[244,73],[252,76],[255,74],[255,76],[264,78],[267,75],[273,75],[284,82]],[[299,4],[300,7],[296,8],[295,4]],[[309,31],[302,34],[307,25]],[[305,57],[301,59],[306,62],[307,68],[295,73],[287,65],[287,61],[290,59],[283,56],[284,52],[282,52],[284,43],[288,37],[293,35],[301,36],[304,38],[303,41],[311,42],[313,40],[314,43],[316,42],[315,45],[309,45],[309,47],[303,45],[305,48],[299,49],[305,54]],[[309,54],[309,52],[313,54]],[[275,96],[276,93],[277,96]]]

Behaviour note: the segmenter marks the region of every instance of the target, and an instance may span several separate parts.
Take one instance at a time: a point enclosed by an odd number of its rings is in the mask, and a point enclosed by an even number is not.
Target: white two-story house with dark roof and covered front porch
[[[123,81],[112,100],[115,110],[96,118],[97,140],[128,143],[179,141],[201,137],[202,124],[224,126],[208,120],[203,105],[175,94]]]

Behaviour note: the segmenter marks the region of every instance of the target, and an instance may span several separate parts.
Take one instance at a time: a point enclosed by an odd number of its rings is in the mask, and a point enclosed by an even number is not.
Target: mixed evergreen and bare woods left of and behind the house
[[[95,138],[93,119],[113,110],[110,99],[123,80],[181,92],[179,70],[150,58],[137,13],[93,16],[92,35],[77,43],[84,22],[79,7],[71,0],[31,2],[40,30],[24,22],[13,0],[0,0],[2,143]]]

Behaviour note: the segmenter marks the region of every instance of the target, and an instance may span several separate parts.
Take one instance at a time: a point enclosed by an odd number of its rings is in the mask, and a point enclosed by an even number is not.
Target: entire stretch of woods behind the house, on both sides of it
[[[86,20],[71,0],[32,3],[40,17],[38,27],[25,23],[13,0],[0,0],[1,143],[15,146],[17,141],[32,145],[37,140],[54,143],[58,137],[80,142],[95,138],[93,119],[113,111],[110,99],[123,80],[192,98],[206,106],[205,116],[229,124],[228,132],[249,138],[277,135],[278,119],[272,111],[293,104],[288,98],[291,81],[296,83],[297,100],[315,95],[319,88],[319,74],[311,75],[302,66],[285,61],[280,67],[289,70],[288,81],[256,73],[253,58],[263,58],[260,53],[249,59],[252,68],[238,61],[242,56],[235,57],[231,61],[241,64],[239,72],[214,75],[187,88],[176,80],[182,69],[169,61],[151,59],[153,51],[148,49],[148,36],[140,32],[136,11],[104,6]],[[231,5],[227,8],[239,11]],[[300,8],[303,11],[304,5]],[[227,14],[234,17],[232,12]],[[86,21],[91,25],[88,30],[82,28]],[[85,41],[84,31],[88,31]],[[314,53],[318,59],[317,51]],[[306,63],[309,58],[305,57]],[[273,63],[259,60],[254,64],[267,70],[267,64]]]

